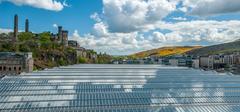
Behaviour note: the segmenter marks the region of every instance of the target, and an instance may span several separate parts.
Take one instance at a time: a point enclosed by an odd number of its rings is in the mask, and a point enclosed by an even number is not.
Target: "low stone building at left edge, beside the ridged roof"
[[[32,53],[0,53],[0,75],[17,75],[33,71]]]

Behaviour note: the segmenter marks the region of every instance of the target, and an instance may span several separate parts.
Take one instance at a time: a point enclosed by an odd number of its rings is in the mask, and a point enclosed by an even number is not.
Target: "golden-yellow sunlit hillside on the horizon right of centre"
[[[174,46],[174,47],[162,47],[158,49],[152,49],[148,51],[139,52],[130,55],[131,58],[144,58],[147,56],[170,56],[176,54],[184,54],[188,51],[201,48],[201,46]]]

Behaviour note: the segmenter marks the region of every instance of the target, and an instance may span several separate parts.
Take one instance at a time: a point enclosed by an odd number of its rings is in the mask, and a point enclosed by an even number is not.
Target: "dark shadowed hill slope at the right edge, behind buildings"
[[[194,49],[187,54],[195,55],[195,56],[204,56],[211,54],[219,54],[219,53],[232,53],[232,52],[240,52],[240,40],[224,43],[219,45],[207,46],[200,49]]]

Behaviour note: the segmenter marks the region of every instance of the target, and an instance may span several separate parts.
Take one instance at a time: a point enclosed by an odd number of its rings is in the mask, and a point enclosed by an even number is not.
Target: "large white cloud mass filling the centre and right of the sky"
[[[180,1],[183,6],[176,9]],[[188,21],[184,16],[170,18],[177,20],[173,23],[162,20],[174,11],[192,11],[193,14],[201,3],[210,1],[215,0],[103,0],[103,12],[90,16],[96,21],[92,33],[80,36],[75,31],[72,37],[83,47],[113,55],[170,45],[218,44],[239,39],[240,21],[237,20]],[[224,10],[211,14],[229,12]]]

